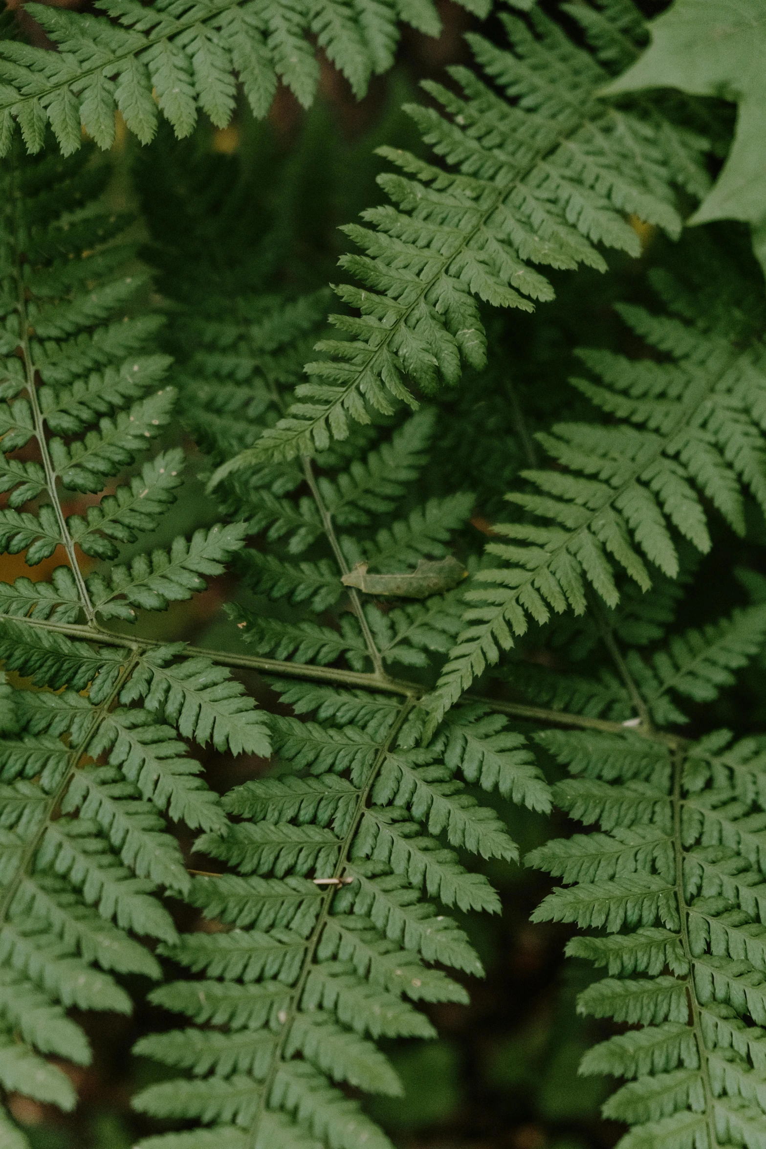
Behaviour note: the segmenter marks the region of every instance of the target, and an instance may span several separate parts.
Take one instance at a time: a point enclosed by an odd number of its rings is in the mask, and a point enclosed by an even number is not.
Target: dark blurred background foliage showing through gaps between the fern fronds
[[[79,0],[65,6],[87,8]],[[409,32],[399,67],[374,80],[361,102],[354,101],[346,82],[324,61],[322,99],[310,113],[303,113],[289,93],[280,90],[266,122],[255,123],[241,108],[224,131],[201,125],[180,149],[176,146],[176,159],[167,170],[163,156],[169,154],[168,140],[162,133],[141,151],[124,130],[118,132],[108,194],[116,210],[136,213],[134,237],[147,256],[163,244],[168,232],[180,228],[188,236],[189,257],[204,252],[210,275],[232,273],[234,245],[257,252],[253,265],[261,284],[254,283],[254,287],[297,293],[332,282],[335,261],[347,247],[340,224],[380,199],[376,176],[384,164],[374,148],[384,141],[420,148],[401,105],[424,99],[418,95],[418,80],[443,79],[446,64],[466,60],[462,36],[471,17],[449,0],[441,0],[439,7],[444,25],[441,38],[430,40]],[[645,7],[651,15],[663,5]],[[29,17],[23,16],[22,22],[33,40],[44,43]],[[492,26],[488,31],[492,34]],[[488,316],[488,369],[481,376],[466,372],[458,391],[441,396],[439,452],[417,498],[430,494],[430,488],[443,489],[440,475],[448,469],[450,483],[457,486],[459,477],[466,489],[475,492],[473,525],[486,531],[513,475],[534,460],[531,432],[562,416],[577,417],[583,400],[566,386],[573,348],[587,341],[636,352],[611,303],[617,299],[651,302],[647,270],[663,264],[676,269],[688,265],[693,245],[684,238],[672,247],[640,221],[635,226],[644,247],[641,260],[612,256],[605,276],[587,270],[574,277],[554,276],[557,300],[533,317],[518,311]],[[718,233],[726,247],[741,247],[742,260],[749,259],[746,237],[736,228],[720,226]],[[161,277],[155,277],[152,291],[156,306],[172,311]],[[183,348],[172,347],[172,334],[169,339],[170,349],[183,354]],[[466,422],[483,427],[486,450],[478,458],[472,449],[475,440],[465,433]],[[202,456],[180,429],[177,435],[194,465],[184,495],[153,540],[157,546],[212,522],[215,516],[200,479]],[[67,512],[82,512],[86,501],[72,500]],[[766,599],[766,578],[751,577],[745,586],[732,576],[733,565],[758,568],[764,542],[766,526],[752,510],[748,538],[736,540],[727,534],[727,545],[714,546],[710,560],[703,562],[679,623],[706,620],[750,596]],[[127,555],[126,548],[124,557]],[[6,555],[0,560],[0,577],[46,578],[57,561],[54,555],[28,569],[23,556]],[[155,615],[149,623],[152,637],[218,648],[234,646],[235,632],[223,620],[220,610],[233,593],[231,579],[214,580],[204,594],[173,603],[163,616]],[[742,733],[764,730],[765,676],[766,660],[761,657],[736,692],[725,695],[712,712],[705,708],[699,728],[728,725]],[[256,696],[274,704],[264,683],[253,678],[247,685]],[[544,765],[555,780],[554,763]],[[234,763],[216,756],[215,776],[209,780],[224,791],[265,769],[261,759],[241,757]],[[502,813],[523,856],[551,834],[565,832],[563,816],[558,816],[558,825],[556,818],[551,825],[502,800],[498,805],[503,805]],[[402,1149],[610,1149],[621,1129],[599,1118],[609,1086],[597,1078],[579,1078],[577,1072],[585,1050],[608,1033],[605,1026],[577,1016],[577,994],[590,974],[585,964],[564,963],[566,927],[528,921],[533,907],[547,893],[546,879],[524,867],[486,866],[502,894],[502,917],[467,917],[462,924],[479,950],[487,977],[482,981],[466,979],[470,1007],[428,1008],[440,1033],[436,1041],[389,1044],[387,1052],[407,1094],[373,1103],[373,1116]],[[194,927],[194,919],[188,918],[192,911],[178,912],[179,924]],[[131,987],[134,998],[140,1001],[145,988]],[[156,1065],[131,1057],[130,1049],[142,1033],[168,1025],[168,1018],[160,1018],[158,1011],[153,1016],[145,1005],[132,1018],[88,1015],[78,1020],[88,1032],[95,1057],[88,1069],[67,1066],[80,1095],[77,1111],[61,1115],[21,1096],[10,1097],[9,1105],[33,1149],[127,1149],[138,1135],[150,1131],[131,1112],[130,1096],[158,1072]]]

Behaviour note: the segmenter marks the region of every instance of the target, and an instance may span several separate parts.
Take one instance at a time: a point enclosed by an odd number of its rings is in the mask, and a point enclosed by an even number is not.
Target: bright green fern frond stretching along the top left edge
[[[358,99],[373,75],[393,65],[400,22],[426,36],[442,29],[431,0],[161,0],[150,8],[103,0],[98,7],[105,15],[28,7],[57,52],[0,44],[0,156],[16,126],[31,153],[52,131],[71,155],[83,129],[109,148],[117,110],[141,144],[154,138],[160,113],[179,139],[200,111],[226,128],[238,88],[258,117],[269,113],[279,83],[309,107],[319,82],[315,45]],[[480,17],[489,10],[486,0],[464,7]]]

